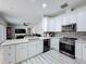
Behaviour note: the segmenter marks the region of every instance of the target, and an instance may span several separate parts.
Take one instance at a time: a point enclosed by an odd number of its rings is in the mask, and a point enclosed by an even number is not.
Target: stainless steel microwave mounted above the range
[[[62,31],[76,31],[76,23],[62,25]]]

